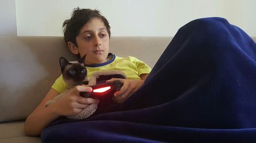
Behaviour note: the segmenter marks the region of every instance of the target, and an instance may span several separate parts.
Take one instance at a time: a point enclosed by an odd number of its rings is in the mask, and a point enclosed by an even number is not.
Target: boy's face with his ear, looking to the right
[[[76,37],[77,47],[69,44],[70,50],[74,54],[86,55],[86,64],[100,64],[106,62],[109,53],[109,34],[106,31],[104,23],[93,18],[87,24],[82,26]]]

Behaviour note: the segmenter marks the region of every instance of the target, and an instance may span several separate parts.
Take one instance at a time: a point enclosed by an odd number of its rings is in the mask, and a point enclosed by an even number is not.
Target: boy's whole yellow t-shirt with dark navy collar
[[[109,53],[109,56],[112,56],[112,59],[108,62],[95,65],[86,65],[88,79],[90,79],[92,74],[96,71],[120,70],[126,75],[127,79],[140,79],[141,74],[148,74],[151,72],[151,68],[149,66],[133,56],[121,58],[112,53]],[[62,75],[55,80],[54,84],[52,85],[52,89],[59,93],[62,93],[64,90],[68,89],[68,85],[63,81]]]

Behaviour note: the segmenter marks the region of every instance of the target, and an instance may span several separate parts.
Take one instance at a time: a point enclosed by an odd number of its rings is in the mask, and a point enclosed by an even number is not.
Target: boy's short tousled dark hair
[[[106,20],[106,18],[102,16],[98,10],[80,9],[78,7],[73,10],[71,18],[63,22],[62,27],[65,42],[68,43],[70,41],[77,46],[76,37],[79,34],[80,29],[84,24],[87,24],[93,18],[99,18],[102,20],[110,37],[111,33],[109,21]]]

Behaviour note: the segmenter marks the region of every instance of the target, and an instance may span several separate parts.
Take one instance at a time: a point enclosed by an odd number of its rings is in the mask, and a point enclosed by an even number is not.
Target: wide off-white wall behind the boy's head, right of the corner
[[[256,36],[255,0],[16,0],[18,36],[62,36],[76,7],[98,9],[112,36],[174,36],[185,23],[220,16]]]

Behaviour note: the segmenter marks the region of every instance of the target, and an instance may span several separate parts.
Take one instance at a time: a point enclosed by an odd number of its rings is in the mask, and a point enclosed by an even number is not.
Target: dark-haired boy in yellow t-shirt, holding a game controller
[[[71,18],[63,22],[63,31],[70,51],[80,57],[87,55],[88,78],[95,71],[121,70],[126,74],[127,79],[119,79],[123,82],[121,90],[114,94],[113,100],[117,103],[122,103],[138,90],[151,71],[150,67],[134,57],[120,58],[109,53],[110,25],[97,10],[75,9]],[[116,79],[110,81],[112,80]],[[92,88],[79,85],[67,96],[44,107],[48,100],[53,99],[66,88],[67,85],[60,76],[46,97],[27,118],[24,127],[26,135],[39,135],[59,116],[76,115],[88,105],[99,102],[97,99],[80,97],[79,92],[91,92]]]

